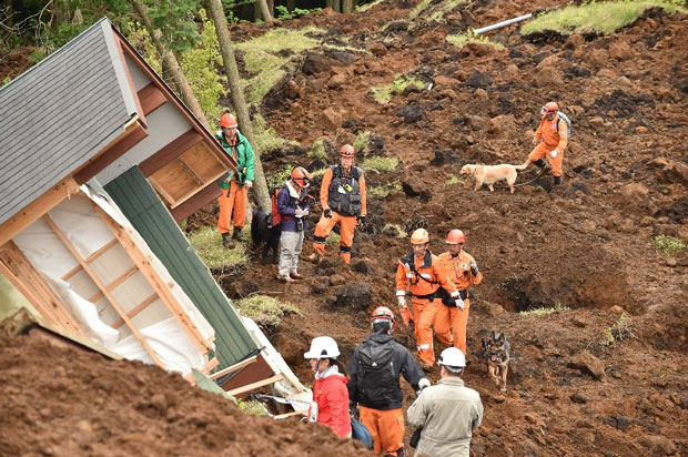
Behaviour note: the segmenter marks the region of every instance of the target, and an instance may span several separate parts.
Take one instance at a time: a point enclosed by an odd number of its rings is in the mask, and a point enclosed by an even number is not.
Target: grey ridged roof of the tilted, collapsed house
[[[0,224],[124,132],[123,74],[105,18],[0,90]]]

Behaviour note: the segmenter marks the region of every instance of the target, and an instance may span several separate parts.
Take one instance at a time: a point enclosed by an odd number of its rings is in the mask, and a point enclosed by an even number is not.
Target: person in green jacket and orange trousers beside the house
[[[222,234],[222,244],[232,248],[232,238],[230,232],[234,224],[233,237],[244,241],[241,231],[246,221],[246,197],[249,189],[253,186],[254,177],[254,158],[251,143],[242,135],[237,128],[236,119],[224,113],[220,118],[221,130],[215,134],[217,141],[224,149],[224,152],[234,161],[236,161],[236,170],[230,170],[217,185],[222,189],[222,194],[217,197],[220,205],[220,215],[217,216],[217,231]],[[232,211],[234,215],[232,215]]]

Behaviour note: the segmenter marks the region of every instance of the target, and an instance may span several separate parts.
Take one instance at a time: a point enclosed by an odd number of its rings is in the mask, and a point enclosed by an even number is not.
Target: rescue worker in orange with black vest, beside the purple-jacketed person
[[[327,234],[337,223],[340,256],[350,263],[355,226],[365,224],[365,179],[363,170],[354,165],[354,146],[344,144],[340,150],[340,158],[338,165],[330,166],[325,171],[320,190],[323,215],[315,226],[313,254],[308,256],[308,260],[316,264],[325,255]]]

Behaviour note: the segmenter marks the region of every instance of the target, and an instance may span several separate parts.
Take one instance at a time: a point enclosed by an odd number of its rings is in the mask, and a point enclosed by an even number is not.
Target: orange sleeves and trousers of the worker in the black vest
[[[352,165],[352,170],[353,170]],[[356,216],[342,215],[335,211],[332,211],[332,217],[325,217],[325,210],[330,210],[327,201],[330,200],[330,185],[332,184],[332,167],[328,167],[323,175],[323,184],[320,187],[320,203],[323,207],[323,214],[315,226],[315,233],[313,234],[313,250],[317,251],[320,256],[325,255],[325,243],[327,242],[327,235],[332,232],[332,228],[336,224],[340,224],[340,256],[344,258],[344,262],[351,261],[351,247],[354,244],[354,230],[356,227]],[[358,189],[361,193],[361,215],[366,214],[366,197],[365,197],[365,179],[363,172],[358,176]]]

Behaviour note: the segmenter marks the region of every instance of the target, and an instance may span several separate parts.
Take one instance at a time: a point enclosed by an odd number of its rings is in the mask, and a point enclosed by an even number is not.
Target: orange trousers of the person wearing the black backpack
[[[373,437],[373,451],[377,455],[396,455],[404,447],[404,414],[402,408],[381,410],[358,407],[361,424]]]

